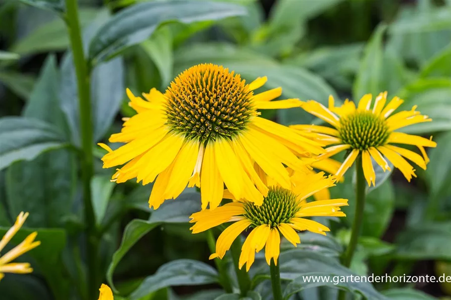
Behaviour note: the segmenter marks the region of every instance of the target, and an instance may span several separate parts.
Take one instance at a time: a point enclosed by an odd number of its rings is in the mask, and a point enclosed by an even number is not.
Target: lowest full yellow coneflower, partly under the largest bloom
[[[295,247],[300,238],[297,231],[308,230],[325,235],[330,231],[326,226],[304,217],[308,216],[345,216],[341,206],[347,206],[346,199],[320,200],[307,203],[305,199],[325,188],[334,186],[335,176],[325,177],[324,172],[295,172],[292,176],[293,190],[281,186],[269,185],[268,195],[261,206],[247,200],[240,200],[220,206],[214,210],[204,210],[191,215],[195,222],[193,233],[199,233],[226,222],[234,222],[219,236],[216,253],[210,259],[224,257],[233,241],[247,228],[252,230],[241,250],[239,267],[246,263],[249,271],[255,258],[255,252],[265,247],[266,262],[271,258],[277,263],[280,252],[280,234]],[[232,198],[227,190],[224,198]]]

